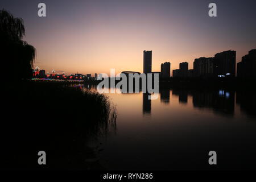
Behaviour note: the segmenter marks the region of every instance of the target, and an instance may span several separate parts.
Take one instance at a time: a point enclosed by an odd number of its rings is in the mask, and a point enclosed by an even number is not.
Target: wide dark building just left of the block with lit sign
[[[213,57],[200,57],[193,63],[194,77],[212,77],[213,76]]]

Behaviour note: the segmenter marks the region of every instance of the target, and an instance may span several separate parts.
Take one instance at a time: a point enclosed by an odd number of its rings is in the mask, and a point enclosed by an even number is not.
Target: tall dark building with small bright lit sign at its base
[[[216,53],[213,61],[213,73],[218,77],[236,76],[236,51]]]

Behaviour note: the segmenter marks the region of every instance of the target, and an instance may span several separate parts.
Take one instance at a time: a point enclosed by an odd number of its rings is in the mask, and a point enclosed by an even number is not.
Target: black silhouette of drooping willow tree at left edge
[[[22,40],[24,35],[23,19],[0,10],[0,60],[5,77],[21,80],[32,76],[36,49]]]

